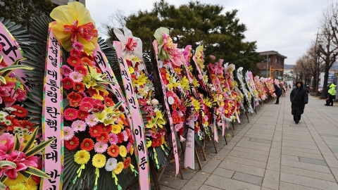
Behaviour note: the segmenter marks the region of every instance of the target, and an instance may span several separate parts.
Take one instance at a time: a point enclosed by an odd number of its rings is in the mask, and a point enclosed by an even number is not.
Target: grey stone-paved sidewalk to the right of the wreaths
[[[299,124],[291,115],[289,94],[280,104],[265,103],[248,123],[235,125],[236,137],[206,144],[203,169],[184,170],[175,177],[173,165],[161,189],[338,189],[338,106],[309,96]],[[336,103],[337,104],[337,103]],[[227,131],[231,134],[231,131]],[[229,141],[230,140],[230,141]]]

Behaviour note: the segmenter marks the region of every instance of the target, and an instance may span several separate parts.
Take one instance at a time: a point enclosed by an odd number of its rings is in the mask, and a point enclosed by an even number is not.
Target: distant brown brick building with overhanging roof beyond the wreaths
[[[258,52],[264,60],[261,63],[257,63],[257,67],[261,70],[261,77],[269,77],[270,66],[272,66],[271,76],[279,80],[283,79],[284,59],[287,56],[283,56],[278,51],[263,51]],[[281,69],[281,70],[274,70]]]

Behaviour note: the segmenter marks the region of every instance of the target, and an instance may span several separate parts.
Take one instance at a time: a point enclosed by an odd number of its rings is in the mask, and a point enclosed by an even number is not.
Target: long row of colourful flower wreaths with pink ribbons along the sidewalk
[[[164,27],[149,69],[126,27],[114,30],[120,42],[103,42],[82,4],[50,15],[33,22],[26,43],[24,30],[1,21],[0,189],[126,189],[131,174],[149,189],[149,160],[159,168],[174,155],[177,174],[183,141],[218,141],[240,113],[275,96],[277,81],[242,68],[235,80],[233,64],[204,63],[203,45],[179,49]],[[187,148],[184,159],[194,168]]]

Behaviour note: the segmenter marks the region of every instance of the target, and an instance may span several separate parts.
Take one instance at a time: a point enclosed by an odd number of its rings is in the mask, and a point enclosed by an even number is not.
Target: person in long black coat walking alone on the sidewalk
[[[304,89],[303,82],[296,82],[296,88],[290,94],[290,101],[294,122],[298,123],[304,112],[305,104],[308,103],[308,92]]]

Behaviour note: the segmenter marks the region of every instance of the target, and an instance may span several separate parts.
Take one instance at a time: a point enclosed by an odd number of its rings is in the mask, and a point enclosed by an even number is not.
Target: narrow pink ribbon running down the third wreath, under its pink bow
[[[163,83],[163,79],[162,79],[161,71],[160,71],[160,66],[158,64],[158,51],[157,51],[158,43],[156,42],[156,40],[154,40],[153,46],[154,46],[154,51],[155,51],[155,55],[156,55],[156,63],[157,63],[157,68],[158,68],[158,74],[159,74],[160,82],[161,82],[161,85],[162,85],[165,109],[167,111],[169,125],[170,125],[171,139],[172,139],[172,142],[173,142],[175,169],[176,169],[175,175],[178,175],[180,163],[179,163],[179,160],[178,160],[176,135],[175,135],[175,129],[174,129],[174,124],[173,124],[173,118],[171,118],[170,108],[169,108],[169,104],[168,104],[167,92],[165,90],[166,88],[165,88],[165,85]]]

